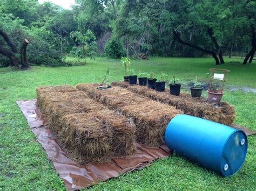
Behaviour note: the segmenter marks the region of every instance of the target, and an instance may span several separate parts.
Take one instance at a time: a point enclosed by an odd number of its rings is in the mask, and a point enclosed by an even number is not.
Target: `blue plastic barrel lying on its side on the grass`
[[[224,176],[242,166],[247,153],[244,131],[189,115],[177,115],[165,131],[171,151]]]

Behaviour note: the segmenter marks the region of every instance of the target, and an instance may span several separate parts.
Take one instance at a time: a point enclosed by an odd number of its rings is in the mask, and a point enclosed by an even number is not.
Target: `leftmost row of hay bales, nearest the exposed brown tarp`
[[[41,109],[59,143],[79,164],[102,162],[135,152],[134,124],[84,93],[37,88]],[[42,90],[42,91],[41,91]],[[71,89],[70,89],[71,90]]]

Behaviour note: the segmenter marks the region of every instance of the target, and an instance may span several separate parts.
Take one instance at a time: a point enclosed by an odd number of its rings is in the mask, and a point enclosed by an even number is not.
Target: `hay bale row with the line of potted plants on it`
[[[143,95],[152,100],[160,101],[184,111],[184,114],[208,119],[213,122],[231,125],[236,117],[234,107],[226,102],[209,103],[206,97],[191,97],[190,94],[180,93],[179,96],[155,91],[144,86],[134,86],[127,82],[112,82],[112,86],[126,88],[132,93]]]

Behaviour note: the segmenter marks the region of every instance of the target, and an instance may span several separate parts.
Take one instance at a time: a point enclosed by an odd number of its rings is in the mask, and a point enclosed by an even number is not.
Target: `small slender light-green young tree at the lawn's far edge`
[[[82,32],[73,31],[70,33],[71,38],[75,38],[78,46],[73,46],[71,53],[78,56],[78,59],[84,59],[84,64],[86,63],[86,56],[90,59],[95,59],[97,45],[96,38],[92,31],[87,30],[85,34]]]

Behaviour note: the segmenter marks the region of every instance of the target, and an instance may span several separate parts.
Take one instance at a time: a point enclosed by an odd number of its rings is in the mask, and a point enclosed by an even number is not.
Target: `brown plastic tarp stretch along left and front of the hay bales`
[[[136,153],[130,158],[113,158],[110,162],[79,165],[67,157],[57,139],[48,128],[43,115],[36,109],[36,100],[17,101],[38,142],[69,190],[82,189],[105,181],[120,174],[142,169],[151,165],[152,160],[172,155],[166,145],[159,148],[146,147],[136,143]]]

